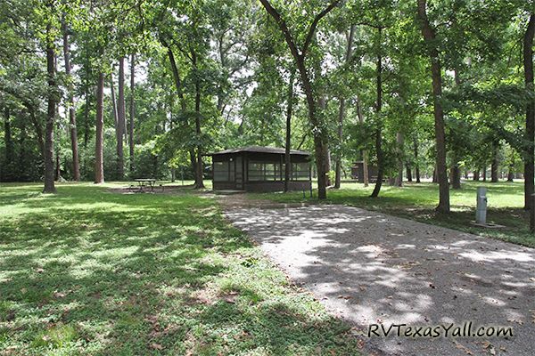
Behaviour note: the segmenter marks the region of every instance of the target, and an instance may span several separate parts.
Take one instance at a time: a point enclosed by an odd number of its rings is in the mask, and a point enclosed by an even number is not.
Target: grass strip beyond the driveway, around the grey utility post
[[[504,225],[489,229],[472,225],[475,220],[475,195],[478,186],[488,188],[487,221]],[[342,183],[340,190],[328,190],[326,200],[303,198],[302,192],[250,194],[249,198],[264,198],[278,202],[308,201],[322,204],[345,204],[381,211],[424,223],[446,226],[524,246],[535,247],[535,237],[529,231],[529,213],[523,210],[523,182],[463,182],[462,190],[450,190],[451,214],[437,214],[439,192],[437,184],[405,183],[403,188],[383,185],[379,198],[369,198],[374,185]],[[314,192],[317,197],[317,192]]]

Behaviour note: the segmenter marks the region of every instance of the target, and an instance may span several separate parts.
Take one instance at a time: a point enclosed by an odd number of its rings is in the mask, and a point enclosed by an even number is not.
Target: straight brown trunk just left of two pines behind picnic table
[[[96,120],[95,120],[95,184],[104,182],[104,73],[98,74],[96,84]]]

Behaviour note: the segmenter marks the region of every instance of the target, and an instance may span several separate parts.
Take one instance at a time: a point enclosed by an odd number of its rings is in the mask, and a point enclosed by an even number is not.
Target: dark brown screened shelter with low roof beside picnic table
[[[206,154],[212,158],[214,190],[283,191],[284,149],[249,146]],[[289,190],[310,190],[310,154],[291,150]]]

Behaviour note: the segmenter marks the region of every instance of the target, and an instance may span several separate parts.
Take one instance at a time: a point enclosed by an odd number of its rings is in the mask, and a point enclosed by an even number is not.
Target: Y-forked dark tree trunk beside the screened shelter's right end
[[[314,149],[316,153],[317,166],[317,196],[318,198],[327,198],[326,191],[326,173],[325,172],[325,158],[328,154],[327,129],[325,127],[325,119],[322,117],[323,113],[317,112],[317,88],[314,87],[310,72],[306,63],[309,46],[314,40],[317,25],[334,7],[340,3],[340,0],[333,0],[325,9],[318,12],[314,20],[310,23],[308,29],[305,31],[305,41],[299,47],[295,37],[292,35],[290,28],[283,19],[281,14],[269,3],[268,0],[260,0],[268,14],[276,21],[276,24],[284,35],[284,40],[296,63],[297,69],[300,72],[300,79],[302,89],[307,97],[307,106],[309,109],[309,121],[312,125],[312,132],[314,136]]]

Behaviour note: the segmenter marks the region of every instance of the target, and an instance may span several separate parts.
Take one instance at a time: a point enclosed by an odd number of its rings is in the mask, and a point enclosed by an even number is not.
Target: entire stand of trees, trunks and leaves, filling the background
[[[384,182],[525,176],[532,1],[4,0],[0,179],[151,175],[197,188],[204,154],[309,150],[319,198],[354,162]],[[127,150],[128,148],[128,150]]]

